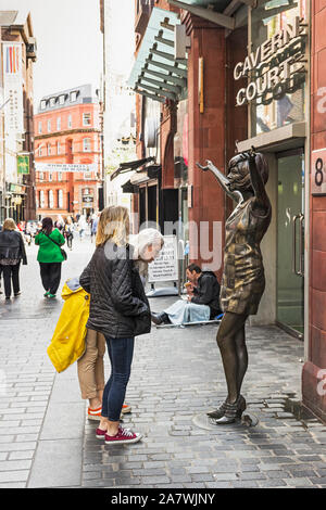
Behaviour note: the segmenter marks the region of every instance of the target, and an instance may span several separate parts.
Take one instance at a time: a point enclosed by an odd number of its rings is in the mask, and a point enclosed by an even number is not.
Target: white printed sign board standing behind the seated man
[[[175,235],[164,235],[164,246],[160,256],[148,266],[148,281],[178,280],[178,245]]]

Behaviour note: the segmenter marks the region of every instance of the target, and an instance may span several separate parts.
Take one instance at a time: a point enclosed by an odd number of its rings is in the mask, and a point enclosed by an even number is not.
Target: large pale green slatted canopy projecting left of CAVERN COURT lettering
[[[128,85],[137,93],[165,103],[178,101],[187,87],[187,60],[175,58],[174,12],[154,8],[149,20]]]

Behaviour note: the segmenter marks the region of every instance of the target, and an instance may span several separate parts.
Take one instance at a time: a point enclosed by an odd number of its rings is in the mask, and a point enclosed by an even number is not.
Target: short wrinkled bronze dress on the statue
[[[239,203],[226,221],[221,285],[224,313],[255,315],[265,290],[260,243],[269,226],[272,207],[259,216],[253,212],[254,200]]]

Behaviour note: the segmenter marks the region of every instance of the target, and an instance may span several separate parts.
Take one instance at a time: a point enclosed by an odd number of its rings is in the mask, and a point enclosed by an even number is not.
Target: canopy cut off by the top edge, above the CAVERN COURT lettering
[[[175,5],[185,11],[189,11],[196,16],[203,17],[216,25],[233,30],[235,18],[231,16],[243,3],[255,7],[258,0],[167,0],[171,5]],[[267,1],[267,0],[266,0]]]

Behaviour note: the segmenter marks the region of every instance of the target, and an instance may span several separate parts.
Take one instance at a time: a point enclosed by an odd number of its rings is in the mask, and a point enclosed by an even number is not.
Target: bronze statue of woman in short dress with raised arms
[[[265,184],[268,166],[262,154],[251,151],[237,154],[228,165],[227,177],[212,162],[198,166],[211,170],[237,206],[225,224],[224,270],[221,305],[224,311],[216,342],[221,350],[227,398],[208,416],[216,424],[233,423],[246,409],[241,385],[248,368],[244,323],[255,315],[265,289],[260,243],[272,217]]]

